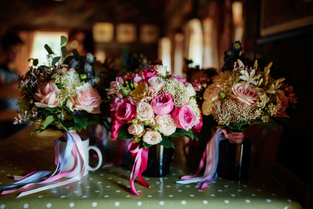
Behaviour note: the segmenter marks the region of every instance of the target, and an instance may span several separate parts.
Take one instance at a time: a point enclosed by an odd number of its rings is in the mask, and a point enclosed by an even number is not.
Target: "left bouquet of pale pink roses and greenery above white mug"
[[[67,50],[66,37],[61,37],[62,57]],[[39,66],[37,59],[25,76],[20,77],[19,89],[21,97],[18,123],[40,123],[43,131],[47,128],[62,131],[81,130],[87,123],[99,119],[101,98],[96,90],[99,84],[93,70],[95,58],[88,53],[80,56],[73,50],[74,56],[69,56],[62,64],[62,57],[52,58],[53,50],[46,44],[47,60],[51,65]]]

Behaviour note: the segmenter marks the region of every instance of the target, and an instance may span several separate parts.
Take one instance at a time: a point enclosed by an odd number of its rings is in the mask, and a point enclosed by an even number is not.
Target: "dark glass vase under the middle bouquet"
[[[163,177],[170,173],[170,163],[174,149],[153,145],[149,147],[147,169],[142,173],[146,177]]]

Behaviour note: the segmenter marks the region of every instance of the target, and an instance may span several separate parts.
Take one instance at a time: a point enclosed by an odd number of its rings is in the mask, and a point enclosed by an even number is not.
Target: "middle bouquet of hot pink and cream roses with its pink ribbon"
[[[134,140],[128,148],[136,156],[131,174],[131,189],[138,175],[141,177],[147,164],[148,148],[152,145],[173,147],[171,136],[185,135],[197,139],[193,132],[202,126],[200,108],[194,98],[196,92],[191,83],[180,75],[169,75],[166,67],[149,66],[139,73],[117,77],[108,91],[113,125],[111,137]]]

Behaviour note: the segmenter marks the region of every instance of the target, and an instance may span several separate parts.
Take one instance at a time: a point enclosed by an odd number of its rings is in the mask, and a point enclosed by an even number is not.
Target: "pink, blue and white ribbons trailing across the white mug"
[[[59,182],[59,183],[51,184],[48,186],[40,187],[37,189],[33,189],[30,191],[22,192],[21,194],[18,195],[18,197],[32,194],[35,192],[39,192],[39,191],[43,191],[46,189],[62,186],[62,185],[69,184],[69,183],[80,180],[83,177],[85,170],[86,170],[85,153],[84,153],[84,149],[83,149],[83,144],[82,144],[81,138],[78,136],[77,133],[66,132],[66,134],[67,134],[68,140],[67,140],[66,149],[64,151],[62,158],[60,158],[60,142],[61,142],[61,140],[57,139],[55,142],[55,156],[56,156],[55,157],[55,163],[57,166],[55,172],[52,172],[52,171],[34,171],[34,172],[29,173],[25,177],[14,176],[15,180],[18,180],[18,181],[11,183],[11,184],[8,184],[8,185],[0,186],[0,188],[1,189],[12,188],[15,186],[22,186],[21,188],[27,188],[33,184],[45,184],[45,183],[50,183],[50,182],[59,180],[59,179],[65,177],[67,175],[70,175],[71,173],[73,173],[75,171],[75,169],[78,166],[78,158],[79,157],[81,157],[81,159],[83,160],[83,167],[82,167],[81,172],[77,176],[75,176],[69,180],[63,181],[63,182]],[[78,148],[78,152],[76,150],[76,146]],[[67,163],[71,152],[73,153],[73,156],[74,156],[74,159],[76,162],[75,168],[72,171],[62,173],[62,168]],[[58,172],[58,174],[55,175],[57,172]],[[51,173],[53,173],[53,174],[50,175],[47,179],[42,180],[43,177],[45,177]],[[3,191],[1,194],[12,193],[12,192],[15,192],[21,188]]]

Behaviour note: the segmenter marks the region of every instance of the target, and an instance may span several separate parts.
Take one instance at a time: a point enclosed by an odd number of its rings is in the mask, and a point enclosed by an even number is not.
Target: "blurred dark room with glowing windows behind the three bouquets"
[[[46,60],[45,43],[61,54],[61,35],[69,38],[68,50],[94,54],[99,68],[108,60],[118,61],[123,49],[128,49],[149,60],[162,60],[172,73],[187,75],[189,80],[207,76],[205,69],[218,71],[224,51],[240,40],[250,60],[273,61],[273,68],[295,89],[298,103],[288,114],[293,128],[282,133],[275,150],[276,166],[280,175],[293,177],[299,190],[306,192],[303,195],[312,194],[312,0],[0,2],[1,138],[8,137],[4,130],[15,133],[24,127],[12,128],[18,75],[28,71],[29,58]],[[278,182],[290,188],[283,180]]]

